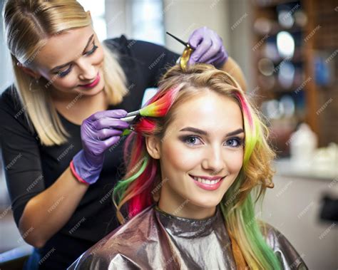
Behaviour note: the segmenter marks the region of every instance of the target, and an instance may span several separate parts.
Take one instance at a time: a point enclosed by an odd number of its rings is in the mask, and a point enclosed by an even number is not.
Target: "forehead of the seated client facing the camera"
[[[230,132],[243,128],[242,111],[235,100],[213,91],[203,91],[199,95],[175,108],[170,125],[175,129],[186,126],[203,130]]]

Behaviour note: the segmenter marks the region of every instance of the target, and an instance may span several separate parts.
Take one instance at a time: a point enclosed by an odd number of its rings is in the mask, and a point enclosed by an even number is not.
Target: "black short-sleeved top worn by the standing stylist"
[[[109,109],[138,110],[144,90],[156,87],[160,75],[168,66],[173,66],[179,57],[162,46],[127,40],[125,36],[110,39],[106,45],[118,53],[130,92],[121,104],[111,105]],[[64,145],[41,146],[37,134],[29,132],[24,107],[16,103],[15,93],[15,88],[11,87],[1,95],[0,137],[6,182],[18,225],[29,199],[58,179],[82,145],[80,125],[58,114],[71,137]],[[98,182],[88,188],[71,219],[39,249],[40,269],[66,269],[84,251],[119,226],[111,194],[124,169],[123,140],[124,137],[106,151]],[[61,196],[56,202],[49,202],[48,211],[52,212],[58,204],[62,204],[63,198]]]

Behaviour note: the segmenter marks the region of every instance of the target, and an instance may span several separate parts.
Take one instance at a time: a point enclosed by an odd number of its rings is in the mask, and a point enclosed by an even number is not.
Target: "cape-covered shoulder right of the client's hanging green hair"
[[[282,232],[267,222],[259,222],[265,242],[279,257],[285,269],[307,269],[303,261],[304,254],[299,254]]]

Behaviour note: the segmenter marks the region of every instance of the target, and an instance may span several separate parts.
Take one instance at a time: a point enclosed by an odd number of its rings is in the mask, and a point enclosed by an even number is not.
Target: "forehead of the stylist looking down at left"
[[[47,68],[68,63],[81,56],[88,38],[93,33],[93,28],[86,26],[51,36],[46,39],[45,46],[36,54],[34,62]]]

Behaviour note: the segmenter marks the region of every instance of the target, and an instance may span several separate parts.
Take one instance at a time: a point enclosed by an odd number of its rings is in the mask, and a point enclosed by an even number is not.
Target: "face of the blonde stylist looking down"
[[[103,90],[103,48],[91,26],[52,36],[36,53],[32,68],[63,95]]]

